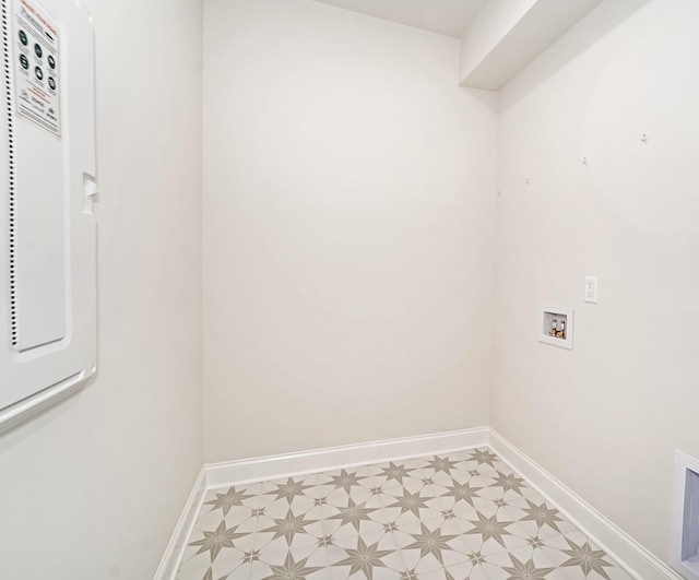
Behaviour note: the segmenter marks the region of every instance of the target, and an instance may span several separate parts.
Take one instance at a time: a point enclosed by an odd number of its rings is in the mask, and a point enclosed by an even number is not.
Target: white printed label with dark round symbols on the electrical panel
[[[58,26],[36,3],[16,5],[14,86],[17,111],[60,137]]]

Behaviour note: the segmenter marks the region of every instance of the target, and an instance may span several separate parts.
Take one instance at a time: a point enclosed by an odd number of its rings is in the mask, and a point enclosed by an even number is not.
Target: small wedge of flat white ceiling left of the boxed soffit
[[[460,38],[486,0],[316,0]]]

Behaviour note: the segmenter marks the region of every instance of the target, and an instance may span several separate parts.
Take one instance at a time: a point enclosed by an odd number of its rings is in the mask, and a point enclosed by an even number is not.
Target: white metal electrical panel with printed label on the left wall
[[[0,2],[1,430],[96,370],[96,162],[90,13]]]

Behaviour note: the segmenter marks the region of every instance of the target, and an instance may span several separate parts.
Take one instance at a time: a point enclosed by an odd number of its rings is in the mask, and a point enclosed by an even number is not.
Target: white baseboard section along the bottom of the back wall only
[[[399,459],[448,453],[488,443],[488,428],[462,429],[418,437],[316,449],[205,465],[206,487],[259,482],[317,471],[366,465]]]

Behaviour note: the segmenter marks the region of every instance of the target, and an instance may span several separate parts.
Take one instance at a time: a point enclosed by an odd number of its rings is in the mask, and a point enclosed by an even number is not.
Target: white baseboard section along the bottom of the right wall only
[[[670,566],[493,429],[489,429],[488,447],[631,576],[639,580],[683,580]]]

